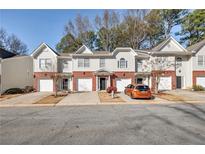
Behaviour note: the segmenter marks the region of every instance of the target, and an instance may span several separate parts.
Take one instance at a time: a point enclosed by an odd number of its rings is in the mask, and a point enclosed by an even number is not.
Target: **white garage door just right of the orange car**
[[[160,77],[159,90],[172,90],[172,78]]]

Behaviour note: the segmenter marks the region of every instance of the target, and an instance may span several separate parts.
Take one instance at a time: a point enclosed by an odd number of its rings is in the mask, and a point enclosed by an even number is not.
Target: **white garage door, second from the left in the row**
[[[92,79],[78,79],[78,91],[92,91]]]

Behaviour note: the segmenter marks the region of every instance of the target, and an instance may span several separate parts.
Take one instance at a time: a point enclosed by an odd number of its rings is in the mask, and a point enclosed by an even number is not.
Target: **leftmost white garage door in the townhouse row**
[[[39,90],[41,92],[53,91],[53,80],[52,79],[41,79],[39,81]]]

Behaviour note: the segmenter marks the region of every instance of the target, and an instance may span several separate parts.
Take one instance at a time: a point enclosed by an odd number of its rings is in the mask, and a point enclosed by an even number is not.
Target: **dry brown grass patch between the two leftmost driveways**
[[[64,97],[65,95],[58,95],[58,96],[50,95],[50,96],[42,98],[41,100],[35,102],[34,104],[57,104]]]

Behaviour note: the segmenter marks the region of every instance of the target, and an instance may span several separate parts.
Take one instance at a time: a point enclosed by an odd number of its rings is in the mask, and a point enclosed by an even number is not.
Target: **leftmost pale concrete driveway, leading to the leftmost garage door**
[[[17,96],[11,99],[7,99],[0,102],[0,106],[21,106],[21,105],[31,105],[38,100],[51,95],[48,92],[35,92],[23,94],[21,96]]]

